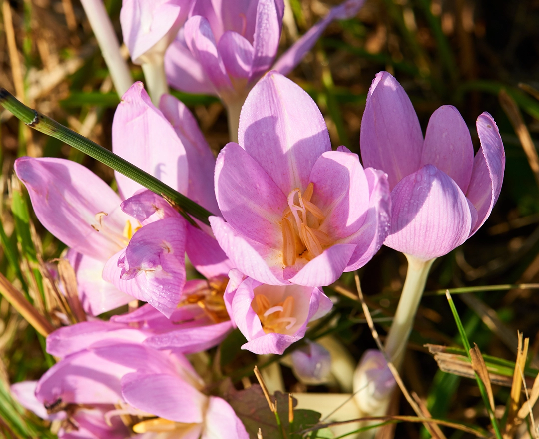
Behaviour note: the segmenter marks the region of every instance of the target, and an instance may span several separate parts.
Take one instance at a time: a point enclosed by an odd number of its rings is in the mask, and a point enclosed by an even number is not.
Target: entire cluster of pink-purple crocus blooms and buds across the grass
[[[430,261],[485,222],[505,163],[488,113],[478,118],[474,158],[454,107],[439,108],[423,137],[403,88],[379,73],[362,120],[362,165],[347,147],[331,148],[315,102],[282,75],[331,20],[353,16],[361,3],[331,10],[268,73],[282,0],[123,3],[135,62],[164,62],[176,88],[243,106],[237,142],[217,159],[188,108],[164,90],[154,104],[135,83],[114,116],[115,154],[212,212],[210,226],[121,173],[116,193],[81,164],[17,159],[38,219],[68,246],[88,314],[47,337],[56,365],[13,385],[23,405],[60,423],[60,437],[247,439],[211,382],[217,366],[201,376],[186,356],[233,330],[245,338],[242,349],[282,354],[331,310],[323,287],[363,267],[384,243],[426,267],[424,285]],[[188,279],[186,264],[199,276]],[[119,308],[127,303],[130,312]],[[98,317],[114,309],[108,320]],[[310,340],[296,347],[298,379],[326,382],[333,354]],[[371,396],[391,392],[379,352],[359,371],[356,386]]]

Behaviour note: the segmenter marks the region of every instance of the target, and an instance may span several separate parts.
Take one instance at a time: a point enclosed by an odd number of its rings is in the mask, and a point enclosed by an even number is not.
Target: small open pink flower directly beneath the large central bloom
[[[318,287],[265,285],[236,269],[229,276],[226,308],[247,339],[241,349],[256,354],[282,354],[305,336],[310,320],[326,315],[333,306]]]

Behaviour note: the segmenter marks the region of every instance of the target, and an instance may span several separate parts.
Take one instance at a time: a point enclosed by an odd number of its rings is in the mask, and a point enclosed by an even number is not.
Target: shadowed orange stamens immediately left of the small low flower
[[[213,277],[201,288],[185,297],[179,306],[193,305],[200,306],[205,314],[215,323],[230,320],[229,313],[226,312],[223,295],[229,278],[226,276]]]

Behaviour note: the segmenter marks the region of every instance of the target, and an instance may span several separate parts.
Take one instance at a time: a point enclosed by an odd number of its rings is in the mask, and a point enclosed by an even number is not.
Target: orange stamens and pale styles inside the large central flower
[[[282,263],[292,267],[300,257],[310,261],[333,244],[319,230],[326,218],[318,206],[310,202],[314,184],[308,184],[303,194],[299,188],[288,194],[288,207],[282,213]]]

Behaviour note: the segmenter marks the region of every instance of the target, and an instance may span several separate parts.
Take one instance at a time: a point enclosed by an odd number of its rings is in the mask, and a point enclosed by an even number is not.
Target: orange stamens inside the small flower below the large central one
[[[251,308],[257,313],[266,334],[270,332],[286,334],[298,321],[292,317],[294,311],[292,296],[288,296],[284,302],[272,305],[264,294],[257,294],[251,302]]]

